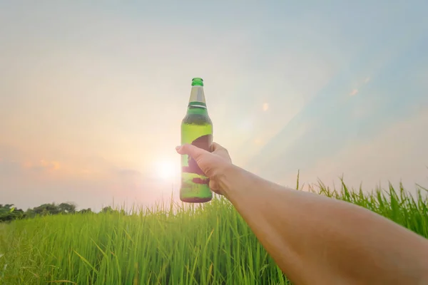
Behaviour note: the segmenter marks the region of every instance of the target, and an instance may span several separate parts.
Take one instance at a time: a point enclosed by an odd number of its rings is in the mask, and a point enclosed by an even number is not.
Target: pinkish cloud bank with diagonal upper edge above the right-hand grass
[[[428,112],[414,115],[408,120],[395,123],[374,138],[356,140],[334,156],[318,160],[315,166],[301,172],[304,182],[317,182],[320,178],[327,185],[344,175],[352,187],[372,190],[379,183],[383,187],[391,181],[395,185],[402,180],[407,190],[414,191],[415,183],[428,185]],[[296,170],[297,171],[297,170]],[[295,173],[287,177],[295,179]]]

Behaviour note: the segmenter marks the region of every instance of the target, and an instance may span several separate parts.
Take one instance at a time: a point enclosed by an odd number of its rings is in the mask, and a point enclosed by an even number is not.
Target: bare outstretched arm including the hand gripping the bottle
[[[428,239],[363,207],[264,180],[226,150],[190,155],[293,284],[428,284]]]

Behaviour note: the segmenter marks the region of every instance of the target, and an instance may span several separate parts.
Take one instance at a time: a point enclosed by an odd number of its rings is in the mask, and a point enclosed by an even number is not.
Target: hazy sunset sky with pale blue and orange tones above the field
[[[1,1],[0,204],[150,206],[214,140],[281,185],[428,186],[427,1]]]

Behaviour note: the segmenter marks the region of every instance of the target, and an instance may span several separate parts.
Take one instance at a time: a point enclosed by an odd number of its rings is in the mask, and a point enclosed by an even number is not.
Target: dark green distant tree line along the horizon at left
[[[101,212],[118,212],[111,206],[103,207]],[[122,212],[122,211],[121,211]],[[11,222],[15,219],[28,219],[37,216],[45,216],[52,214],[88,214],[94,213],[91,208],[76,210],[76,204],[73,203],[49,203],[41,204],[38,207],[29,208],[26,211],[18,209],[14,204],[0,204],[0,222]]]

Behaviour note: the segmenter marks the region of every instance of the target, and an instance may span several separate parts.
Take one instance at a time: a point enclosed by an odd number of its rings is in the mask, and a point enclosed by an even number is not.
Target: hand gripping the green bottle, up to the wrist
[[[210,189],[220,195],[224,194],[220,186],[220,177],[232,166],[228,150],[217,142],[213,142],[213,152],[208,152],[195,145],[181,145],[175,147],[180,155],[189,155],[198,164],[200,170],[210,179]]]

